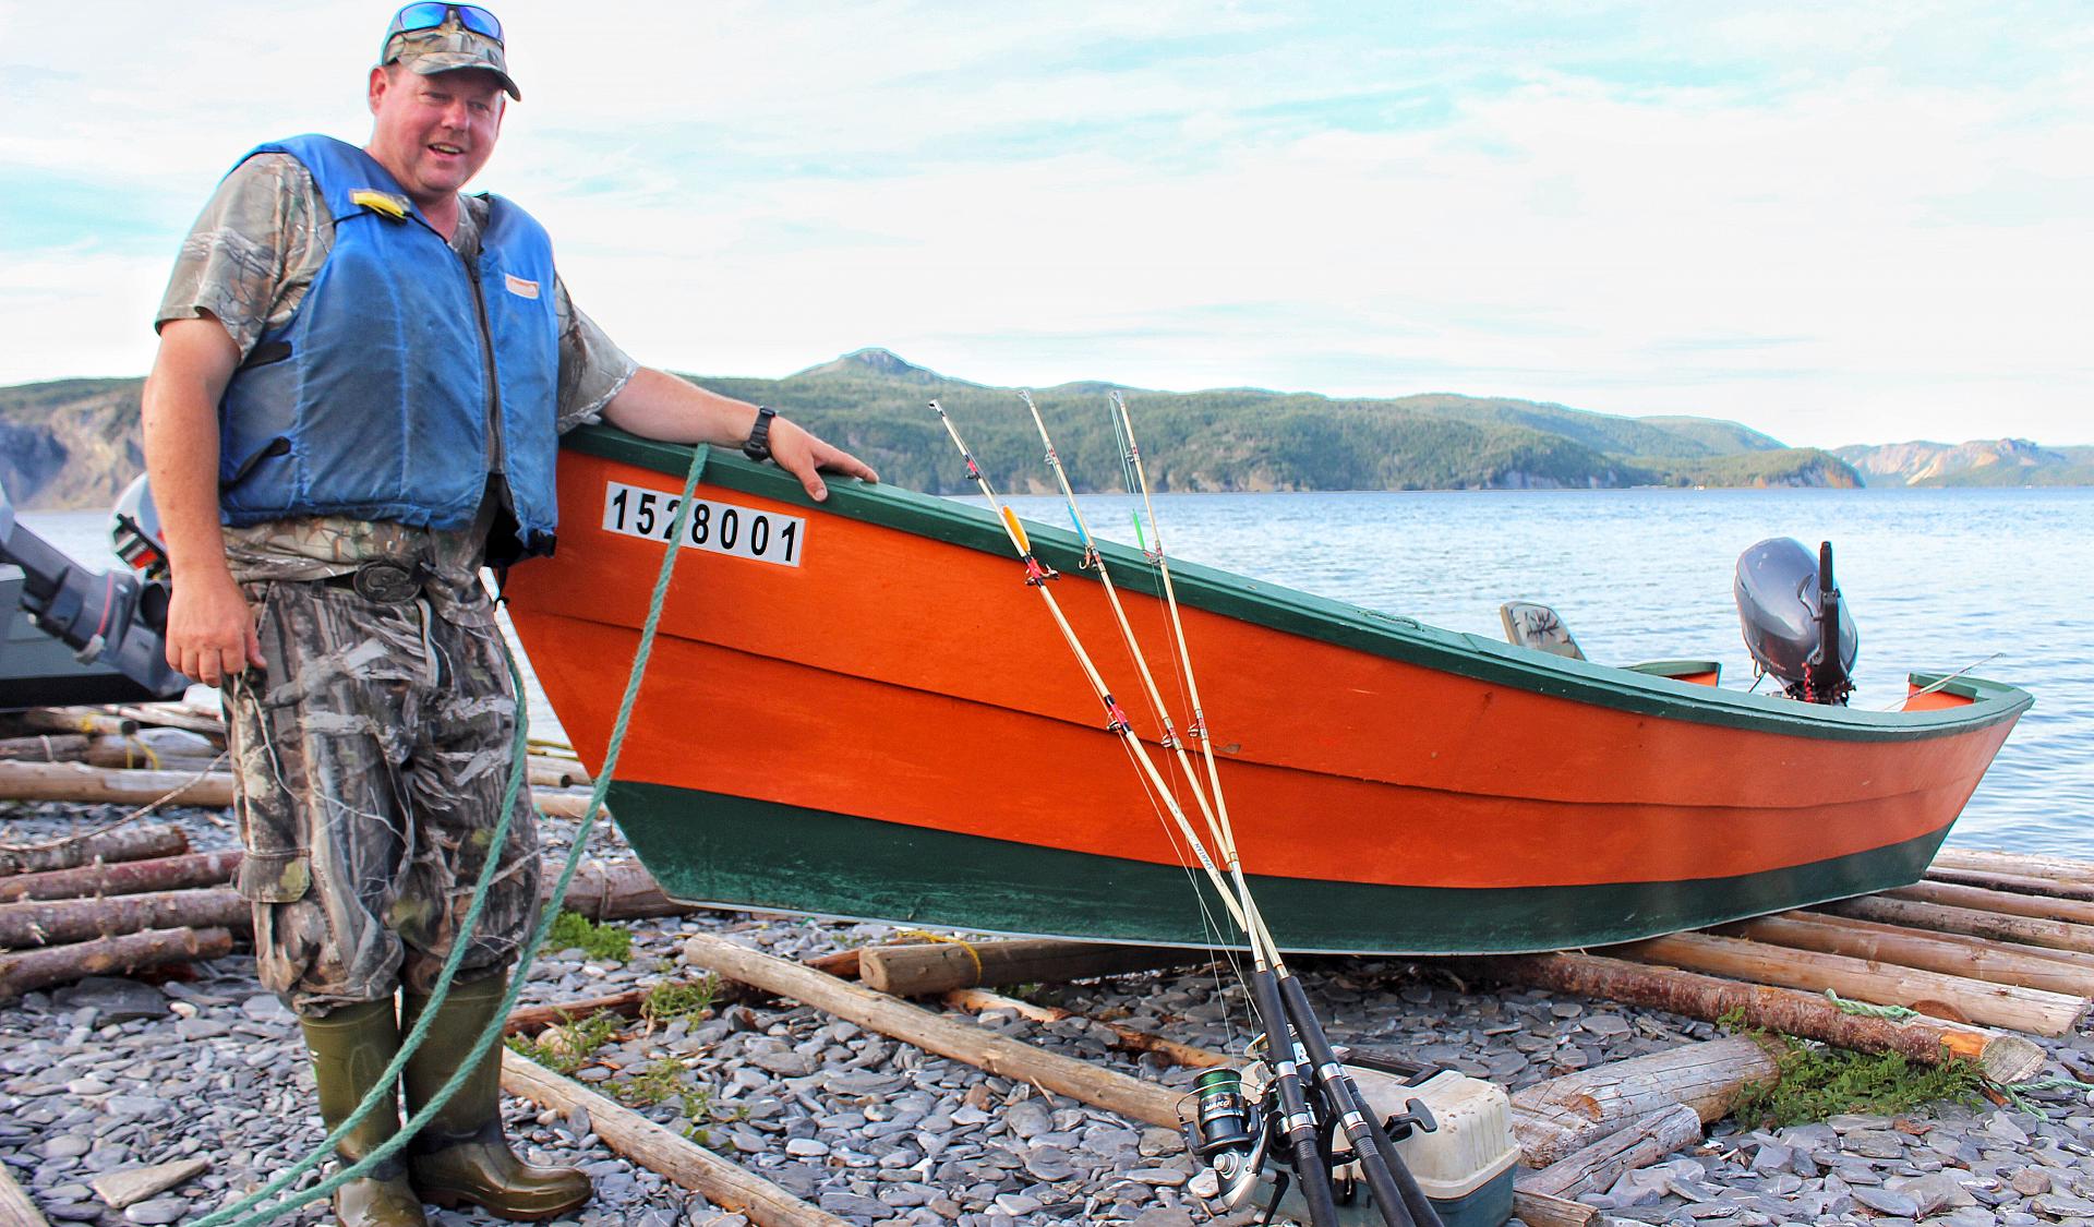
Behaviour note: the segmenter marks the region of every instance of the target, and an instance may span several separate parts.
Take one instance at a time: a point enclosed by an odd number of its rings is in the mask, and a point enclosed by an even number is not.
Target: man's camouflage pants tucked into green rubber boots
[[[509,781],[517,701],[484,603],[456,620],[310,582],[249,584],[260,670],[226,687],[262,984],[302,1016],[436,982]],[[530,789],[461,980],[507,967],[538,905]]]

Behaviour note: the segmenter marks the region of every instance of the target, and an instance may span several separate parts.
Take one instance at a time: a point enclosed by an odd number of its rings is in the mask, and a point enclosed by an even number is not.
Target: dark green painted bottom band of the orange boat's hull
[[[618,827],[681,902],[976,934],[1227,944],[1194,871],[909,827],[729,794],[611,783]],[[1604,886],[1422,888],[1252,873],[1294,953],[1510,955],[1604,946],[1916,882],[1947,827],[1740,877]],[[1194,907],[1194,896],[1202,907]],[[1206,917],[1206,919],[1202,919]],[[1405,938],[1390,949],[1390,934]]]

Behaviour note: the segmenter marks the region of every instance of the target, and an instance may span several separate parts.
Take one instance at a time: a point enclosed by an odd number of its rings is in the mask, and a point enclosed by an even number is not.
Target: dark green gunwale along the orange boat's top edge
[[[691,467],[691,444],[643,440],[607,425],[567,431],[561,446],[664,475],[685,475]],[[861,519],[923,536],[946,544],[1001,555],[1009,551],[1003,526],[986,507],[903,486],[829,482],[827,503],[808,498],[800,479],[773,465],[704,448],[701,482],[756,494],[779,503]],[[1074,532],[1049,523],[1026,521],[1034,553],[1064,576],[1097,582],[1081,567],[1083,544]],[[1097,542],[1122,590],[1160,597],[1156,567],[1141,551],[1112,540]],[[1589,660],[1570,660],[1543,651],[1499,643],[1472,632],[1428,626],[1403,614],[1384,614],[1315,593],[1288,588],[1267,580],[1238,576],[1196,561],[1171,559],[1181,605],[1223,618],[1252,622],[1286,634],[1365,651],[1384,660],[1443,670],[1449,674],[1510,685],[1529,693],[1594,704],[1621,712],[1753,729],[1761,733],[1815,737],[1834,741],[1918,741],[1975,733],[2002,720],[2019,718],[2035,699],[2008,683],[1943,672],[1908,674],[1914,687],[1933,687],[1968,699],[1968,706],[1922,712],[1859,710],[1843,706],[1799,704],[1780,695],[1725,691],[1696,683],[1614,668]]]

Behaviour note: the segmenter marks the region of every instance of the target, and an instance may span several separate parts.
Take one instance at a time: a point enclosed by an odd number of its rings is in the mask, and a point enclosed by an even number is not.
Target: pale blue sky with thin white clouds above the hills
[[[2094,4],[490,4],[473,188],[634,358],[2094,442]],[[140,375],[389,4],[0,0],[0,383]]]

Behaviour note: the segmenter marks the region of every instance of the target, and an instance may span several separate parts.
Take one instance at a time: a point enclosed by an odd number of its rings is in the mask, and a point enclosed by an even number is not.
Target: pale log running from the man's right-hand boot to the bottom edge
[[[764,1227],[848,1227],[836,1214],[808,1206],[771,1181],[509,1049],[503,1049],[503,1091],[557,1112],[588,1112],[591,1129],[618,1154]]]

